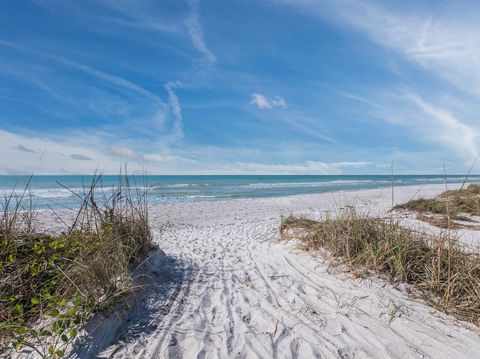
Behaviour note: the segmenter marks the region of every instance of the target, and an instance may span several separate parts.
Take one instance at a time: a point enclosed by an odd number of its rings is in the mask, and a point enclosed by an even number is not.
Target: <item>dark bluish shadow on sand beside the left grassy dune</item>
[[[133,273],[134,285],[143,288],[129,295],[114,310],[95,316],[84,328],[87,335],[77,340],[69,357],[110,357],[132,343],[140,350],[145,338],[154,332],[158,345],[169,339],[167,331],[158,327],[168,328],[181,312],[195,271],[192,264],[156,250]]]

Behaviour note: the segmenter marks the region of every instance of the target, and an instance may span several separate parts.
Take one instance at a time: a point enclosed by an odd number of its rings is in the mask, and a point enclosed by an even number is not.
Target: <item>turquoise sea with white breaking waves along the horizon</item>
[[[0,194],[14,191],[18,196],[28,181],[27,176],[0,176]],[[101,186],[108,193],[117,183],[117,176],[103,176]],[[36,176],[30,183],[30,193],[37,209],[75,208],[83,185],[89,176]],[[461,183],[464,176],[448,176],[449,183]],[[469,181],[480,181],[471,176]],[[232,198],[278,197],[295,194],[348,191],[391,186],[443,183],[441,175],[358,175],[358,176],[131,176],[132,186],[148,188],[149,203],[215,201]],[[67,187],[67,188],[64,188]],[[74,193],[72,193],[74,192]]]

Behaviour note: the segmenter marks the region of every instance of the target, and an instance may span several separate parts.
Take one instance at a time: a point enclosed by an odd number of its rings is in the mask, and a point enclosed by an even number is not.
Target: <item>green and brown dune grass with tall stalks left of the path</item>
[[[0,214],[0,346],[66,354],[96,311],[133,290],[130,270],[153,248],[146,192],[128,176],[107,192],[100,176],[83,193],[64,233],[34,226],[28,188],[4,198]],[[27,203],[27,208],[24,204]],[[0,353],[2,348],[0,348]]]

